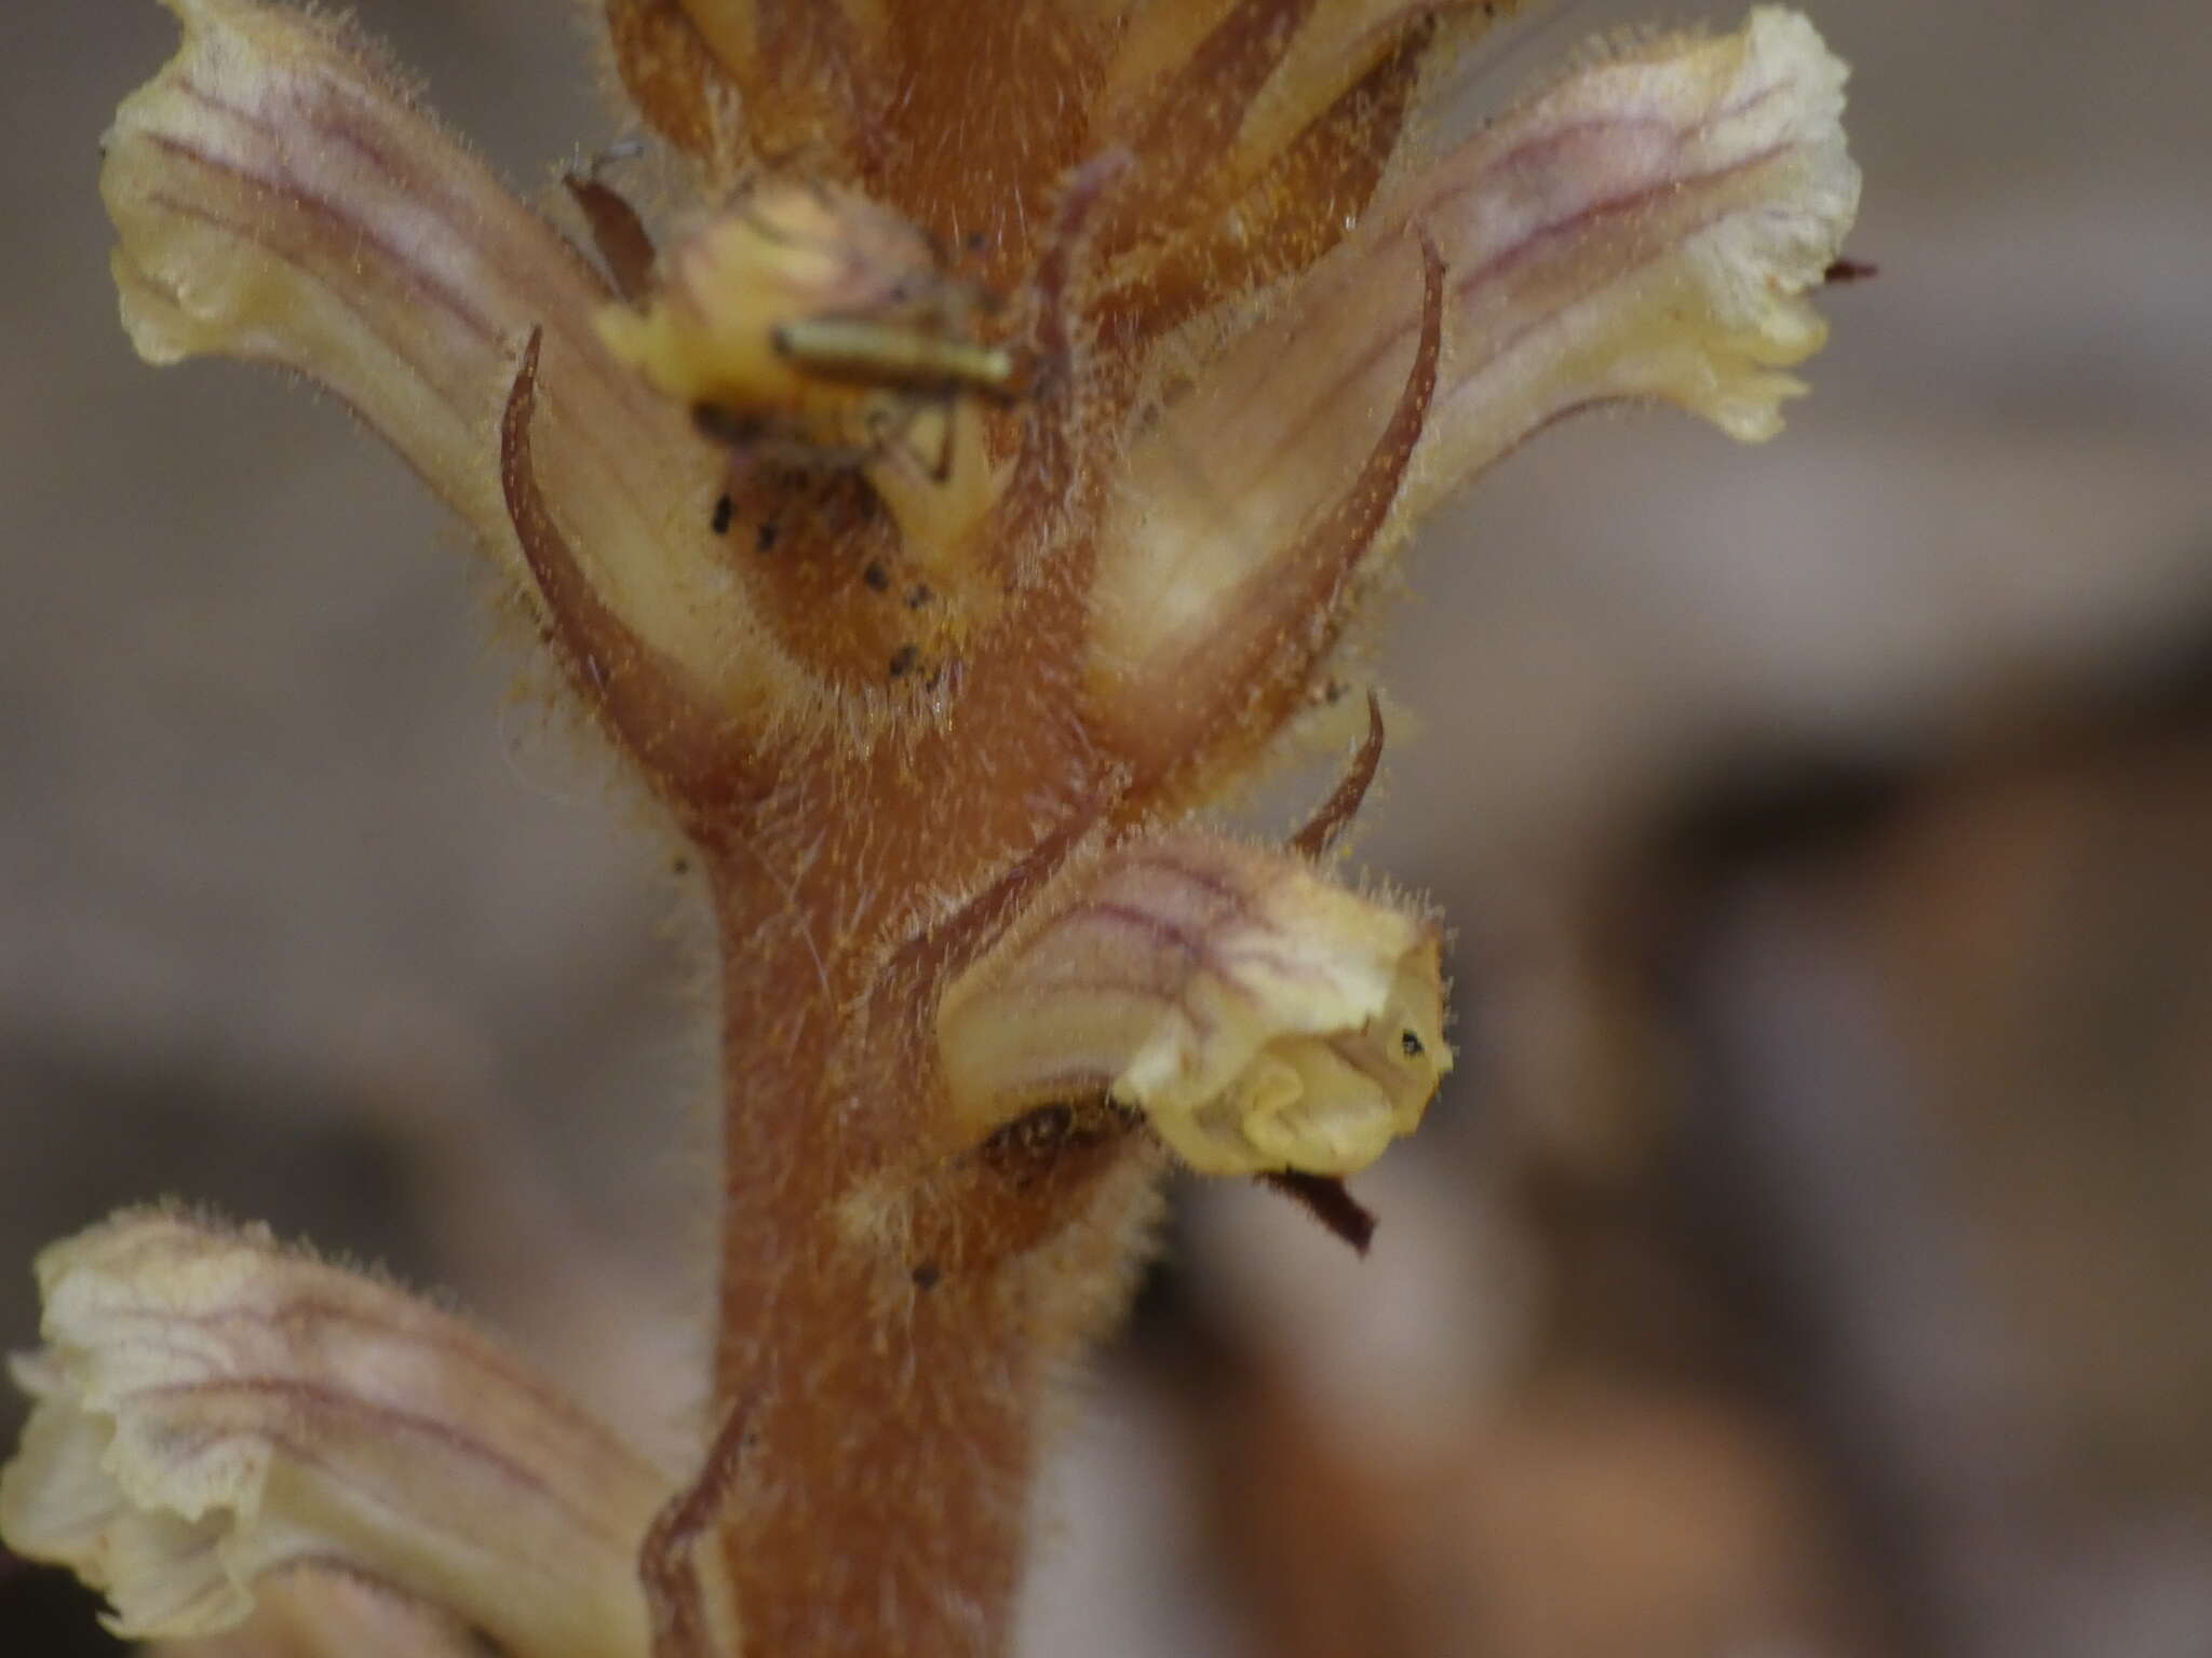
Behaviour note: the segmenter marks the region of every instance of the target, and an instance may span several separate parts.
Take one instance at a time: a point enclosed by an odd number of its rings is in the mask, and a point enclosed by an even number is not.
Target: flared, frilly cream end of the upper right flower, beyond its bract
[[[1577,71],[1418,181],[1405,212],[1460,270],[1464,332],[1438,469],[1526,436],[1513,405],[1652,398],[1743,442],[1781,431],[1805,391],[1783,369],[1827,340],[1807,294],[1858,212],[1845,73],[1812,22],[1763,7]]]

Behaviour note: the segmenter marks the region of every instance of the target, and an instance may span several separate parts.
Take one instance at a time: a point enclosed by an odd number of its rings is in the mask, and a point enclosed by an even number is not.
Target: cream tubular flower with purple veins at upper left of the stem
[[[542,325],[538,473],[586,575],[699,683],[757,694],[763,639],[708,533],[723,462],[599,347],[606,292],[577,252],[338,24],[164,4],[184,44],[117,108],[100,175],[139,354],[330,387],[526,588],[498,416]]]

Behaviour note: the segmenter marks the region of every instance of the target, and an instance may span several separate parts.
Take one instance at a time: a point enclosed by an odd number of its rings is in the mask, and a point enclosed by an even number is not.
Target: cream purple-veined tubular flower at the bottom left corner
[[[38,1280],[0,1539],[117,1634],[219,1634],[270,1574],[338,1574],[502,1651],[648,1651],[637,1547],[670,1481],[460,1320],[170,1211],[53,1245]]]

